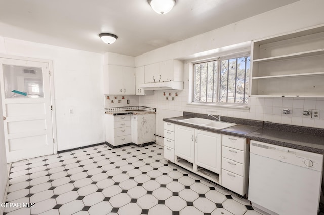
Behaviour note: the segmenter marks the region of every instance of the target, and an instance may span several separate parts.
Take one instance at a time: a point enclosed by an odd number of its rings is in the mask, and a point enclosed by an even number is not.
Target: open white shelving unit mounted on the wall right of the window
[[[252,43],[254,97],[324,97],[324,25]]]

